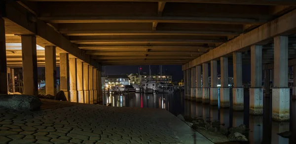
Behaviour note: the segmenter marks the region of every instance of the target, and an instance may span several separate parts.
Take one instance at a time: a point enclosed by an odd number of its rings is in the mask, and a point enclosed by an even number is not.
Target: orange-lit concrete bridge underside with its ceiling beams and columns
[[[58,65],[66,68],[61,70],[70,77],[66,91],[78,102],[84,90],[95,90],[94,82],[84,80],[100,77],[94,73],[102,65],[183,65],[185,94],[216,105],[217,79],[211,79],[211,88],[198,81],[209,63],[211,77],[217,77],[220,60],[222,107],[229,107],[230,63],[235,108],[241,110],[241,66],[251,64],[250,113],[262,113],[262,68],[274,69],[273,118],[289,119],[285,78],[296,58],[295,0],[1,0],[0,7],[1,79],[7,78],[7,66],[26,67],[36,79],[37,66],[48,64],[54,73]],[[36,45],[45,51],[36,52]],[[1,83],[0,93],[6,92]]]

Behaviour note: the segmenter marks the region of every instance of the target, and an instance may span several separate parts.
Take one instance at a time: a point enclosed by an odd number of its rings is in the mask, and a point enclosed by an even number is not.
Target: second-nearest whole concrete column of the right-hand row
[[[251,46],[250,114],[263,114],[262,46]]]

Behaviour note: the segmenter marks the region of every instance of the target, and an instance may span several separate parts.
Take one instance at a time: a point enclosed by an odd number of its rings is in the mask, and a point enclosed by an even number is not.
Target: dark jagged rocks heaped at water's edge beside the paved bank
[[[238,127],[232,127],[229,129],[222,128],[219,120],[216,121],[204,121],[202,118],[192,118],[190,116],[183,116],[179,114],[177,116],[183,120],[187,125],[192,127],[195,130],[203,130],[215,133],[221,133],[225,135],[229,141],[240,141],[247,142],[248,139],[242,133],[246,132],[246,126],[240,125]]]

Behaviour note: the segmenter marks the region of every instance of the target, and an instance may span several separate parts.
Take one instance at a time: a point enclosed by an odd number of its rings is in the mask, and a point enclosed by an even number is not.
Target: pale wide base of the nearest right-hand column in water
[[[290,88],[272,89],[272,119],[276,121],[290,119]]]

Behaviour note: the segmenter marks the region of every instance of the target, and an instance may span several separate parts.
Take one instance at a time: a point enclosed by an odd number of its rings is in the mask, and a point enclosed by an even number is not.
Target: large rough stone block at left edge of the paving
[[[17,110],[39,110],[41,101],[37,96],[0,95],[0,107]]]

